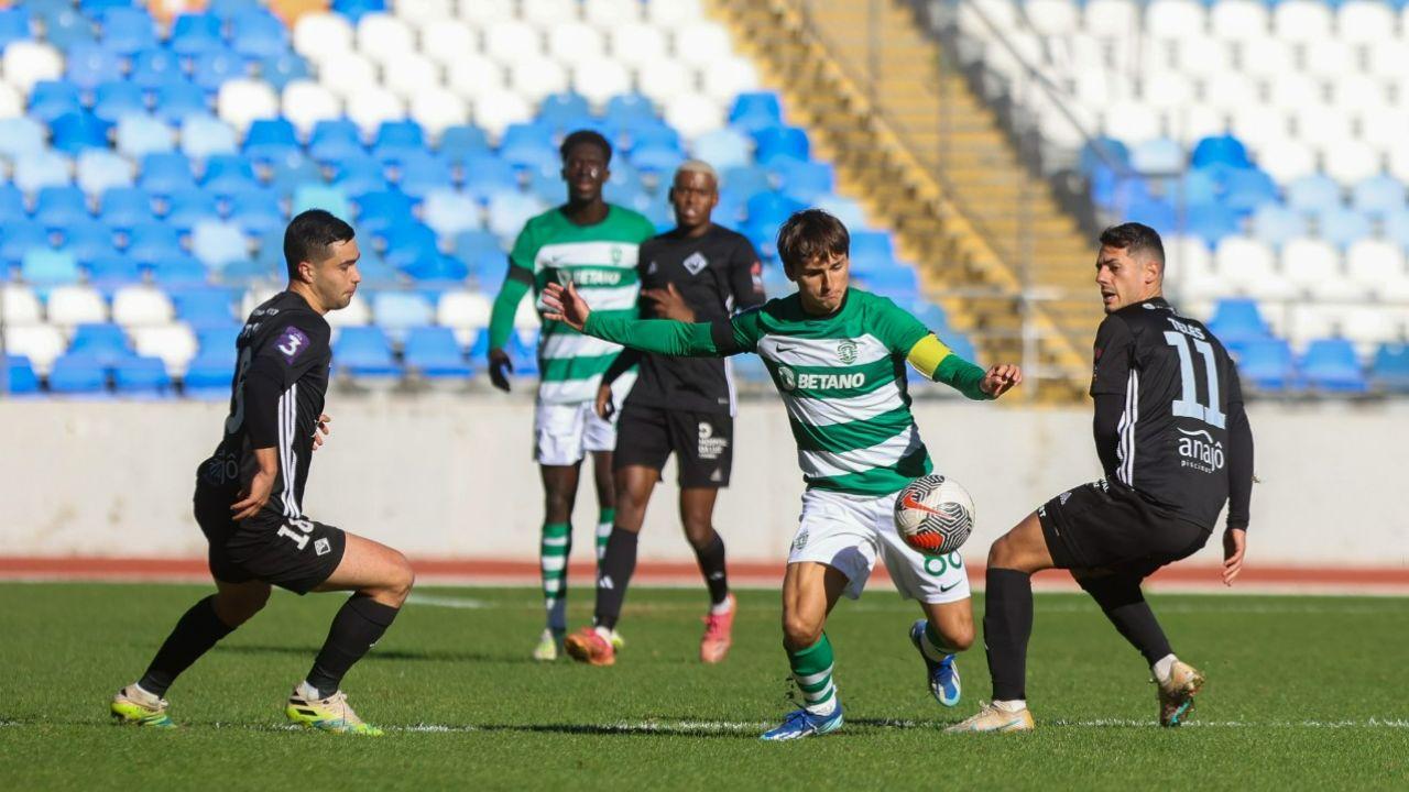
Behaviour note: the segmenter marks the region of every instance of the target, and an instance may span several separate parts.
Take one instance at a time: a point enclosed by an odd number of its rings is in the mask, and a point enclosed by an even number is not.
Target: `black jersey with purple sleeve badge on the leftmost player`
[[[197,488],[234,496],[259,465],[255,448],[278,448],[279,474],[265,510],[302,517],[313,433],[328,390],[333,349],[323,316],[293,292],[280,292],[249,314],[235,342],[230,416]]]

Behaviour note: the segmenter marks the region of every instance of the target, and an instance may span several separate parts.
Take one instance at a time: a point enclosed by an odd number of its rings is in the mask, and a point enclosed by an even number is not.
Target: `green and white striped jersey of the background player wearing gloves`
[[[561,209],[552,209],[524,224],[509,265],[533,275],[540,313],[544,287],[552,280],[571,279],[593,311],[630,317],[635,316],[640,290],[637,249],[654,235],[650,220],[620,206],[609,206],[606,220],[595,225],[578,225]],[[620,351],[617,344],[545,320],[538,341],[538,400],[552,404],[593,400],[602,372]]]

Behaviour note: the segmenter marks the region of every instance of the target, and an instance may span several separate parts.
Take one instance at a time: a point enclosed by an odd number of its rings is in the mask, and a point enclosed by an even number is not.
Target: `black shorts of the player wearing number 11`
[[[1210,533],[1106,479],[1053,497],[1037,509],[1037,519],[1058,569],[1109,569],[1140,578],[1193,555]]]

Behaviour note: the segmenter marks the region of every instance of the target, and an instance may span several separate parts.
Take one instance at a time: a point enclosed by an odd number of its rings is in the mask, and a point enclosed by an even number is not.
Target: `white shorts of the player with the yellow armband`
[[[876,557],[905,599],[924,603],[968,599],[968,569],[958,551],[923,555],[895,531],[895,499],[900,493],[868,497],[824,489],[802,496],[802,517],[788,562],[814,561],[847,576],[845,595],[861,596]]]

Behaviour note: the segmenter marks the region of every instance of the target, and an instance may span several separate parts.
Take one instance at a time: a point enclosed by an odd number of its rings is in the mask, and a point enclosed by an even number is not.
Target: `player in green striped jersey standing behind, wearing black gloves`
[[[572,283],[603,316],[635,316],[637,248],[655,235],[655,227],[641,214],[602,197],[612,162],[612,144],[606,138],[579,130],[562,141],[561,152],[568,203],[524,225],[509,254],[509,273],[490,314],[489,378],[500,390],[509,390],[507,373],[513,372],[504,344],[513,333],[519,303],[530,289],[541,295],[548,283]],[[535,660],[557,660],[566,633],[569,521],[578,496],[578,471],[588,452],[593,455],[597,489],[599,557],[612,533],[616,424],[597,417],[593,404],[602,373],[620,349],[551,318],[540,333],[534,459],[544,489],[538,561],[548,624],[534,647]],[[619,400],[634,380],[634,375],[624,375],[613,383]]]

